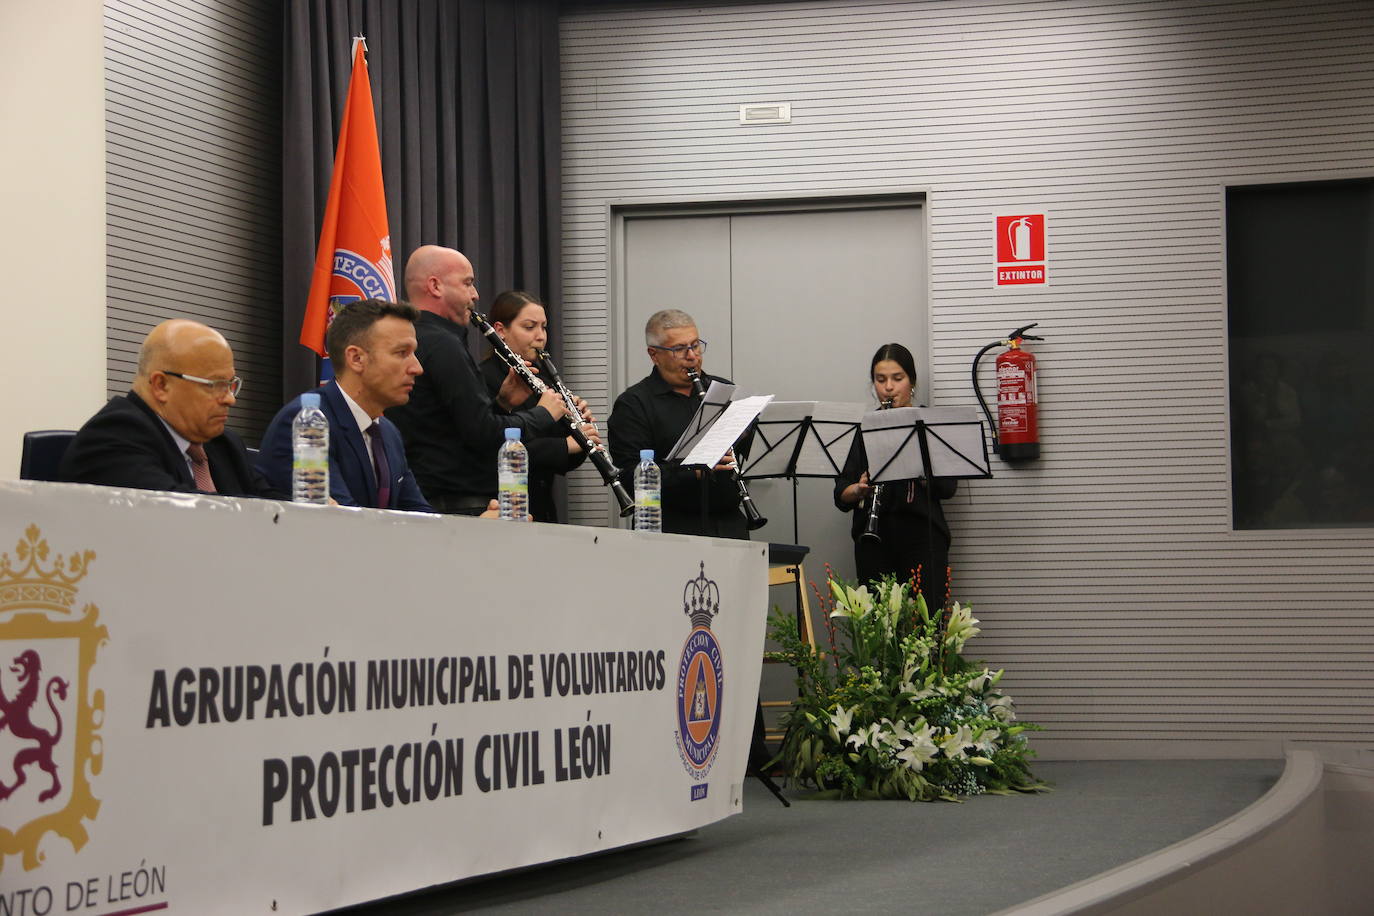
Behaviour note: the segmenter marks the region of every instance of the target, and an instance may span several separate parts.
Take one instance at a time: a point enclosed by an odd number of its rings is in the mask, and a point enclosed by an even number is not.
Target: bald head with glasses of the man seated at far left
[[[224,433],[234,378],[234,350],[224,335],[199,321],[172,319],[143,339],[133,390],[184,438],[207,442]]]

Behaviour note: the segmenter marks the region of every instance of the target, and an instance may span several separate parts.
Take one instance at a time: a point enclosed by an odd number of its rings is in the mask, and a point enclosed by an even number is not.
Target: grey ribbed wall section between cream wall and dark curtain
[[[104,7],[109,393],[148,328],[203,321],[234,347],[250,442],[282,400],[279,19],[269,0]]]

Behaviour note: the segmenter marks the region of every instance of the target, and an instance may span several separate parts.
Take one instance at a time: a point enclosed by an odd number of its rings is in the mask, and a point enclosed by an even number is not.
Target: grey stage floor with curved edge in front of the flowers
[[[1191,836],[1257,801],[1282,769],[1282,759],[1040,762],[1054,791],[962,805],[787,792],[783,808],[750,780],[742,814],[684,839],[342,912],[982,916]]]

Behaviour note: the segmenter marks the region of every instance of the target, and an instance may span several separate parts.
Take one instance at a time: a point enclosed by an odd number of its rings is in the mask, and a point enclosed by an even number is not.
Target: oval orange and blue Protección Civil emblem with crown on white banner
[[[687,773],[703,780],[720,747],[725,681],[720,644],[710,632],[712,618],[720,614],[720,586],[706,578],[705,562],[683,588],[683,614],[691,619],[691,632],[677,663],[677,750]]]

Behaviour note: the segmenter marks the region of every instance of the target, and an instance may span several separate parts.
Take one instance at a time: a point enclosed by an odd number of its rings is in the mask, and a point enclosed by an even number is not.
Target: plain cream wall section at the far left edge
[[[104,401],[104,60],[99,0],[0,4],[0,478],[25,430]]]

